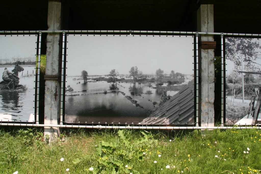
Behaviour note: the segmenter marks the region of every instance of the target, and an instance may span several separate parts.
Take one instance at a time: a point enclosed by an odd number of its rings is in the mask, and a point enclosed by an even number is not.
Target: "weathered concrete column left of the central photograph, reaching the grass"
[[[61,2],[48,2],[48,30],[61,30]],[[46,39],[44,124],[58,124],[60,118],[60,91],[58,81],[60,59],[60,33],[50,33]],[[52,75],[52,78],[49,78]],[[49,142],[58,136],[57,128],[44,127]]]

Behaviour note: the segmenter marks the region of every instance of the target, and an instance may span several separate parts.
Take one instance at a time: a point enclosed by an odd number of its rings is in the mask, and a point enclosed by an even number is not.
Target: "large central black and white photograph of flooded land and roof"
[[[194,38],[67,35],[65,122],[193,124]]]

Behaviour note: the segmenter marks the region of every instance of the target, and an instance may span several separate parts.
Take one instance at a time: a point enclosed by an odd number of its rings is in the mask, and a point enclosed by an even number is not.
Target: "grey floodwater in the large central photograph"
[[[161,101],[163,94],[163,90],[153,89],[145,83],[117,82],[119,89],[110,90],[112,83],[89,80],[84,84],[83,80],[73,80],[74,78],[79,77],[67,77],[66,79],[67,89],[68,85],[73,88],[73,92],[67,91],[65,97],[65,121],[67,123],[138,124],[153,110],[153,102]],[[107,93],[105,94],[104,91]],[[149,91],[151,94],[147,93]],[[167,91],[167,95],[173,96],[177,92]],[[139,106],[133,104],[126,96],[137,101]]]

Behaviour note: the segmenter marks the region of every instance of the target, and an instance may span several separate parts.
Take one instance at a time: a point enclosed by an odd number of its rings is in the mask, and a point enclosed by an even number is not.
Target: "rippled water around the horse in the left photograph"
[[[35,65],[21,65],[21,67],[24,71],[18,74],[19,84],[26,86],[27,89],[0,90],[0,120],[2,121],[33,122],[35,120]],[[8,67],[10,72],[12,69],[13,67]],[[4,67],[0,67],[0,72],[3,71]]]

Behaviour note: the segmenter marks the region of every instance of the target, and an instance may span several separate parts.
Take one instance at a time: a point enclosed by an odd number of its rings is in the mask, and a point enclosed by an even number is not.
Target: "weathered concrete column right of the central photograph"
[[[214,32],[213,4],[202,4],[197,11],[197,30]],[[201,41],[214,41],[213,35],[201,35]],[[199,44],[201,45],[201,44]],[[199,48],[200,120],[201,126],[214,126],[214,49]]]

